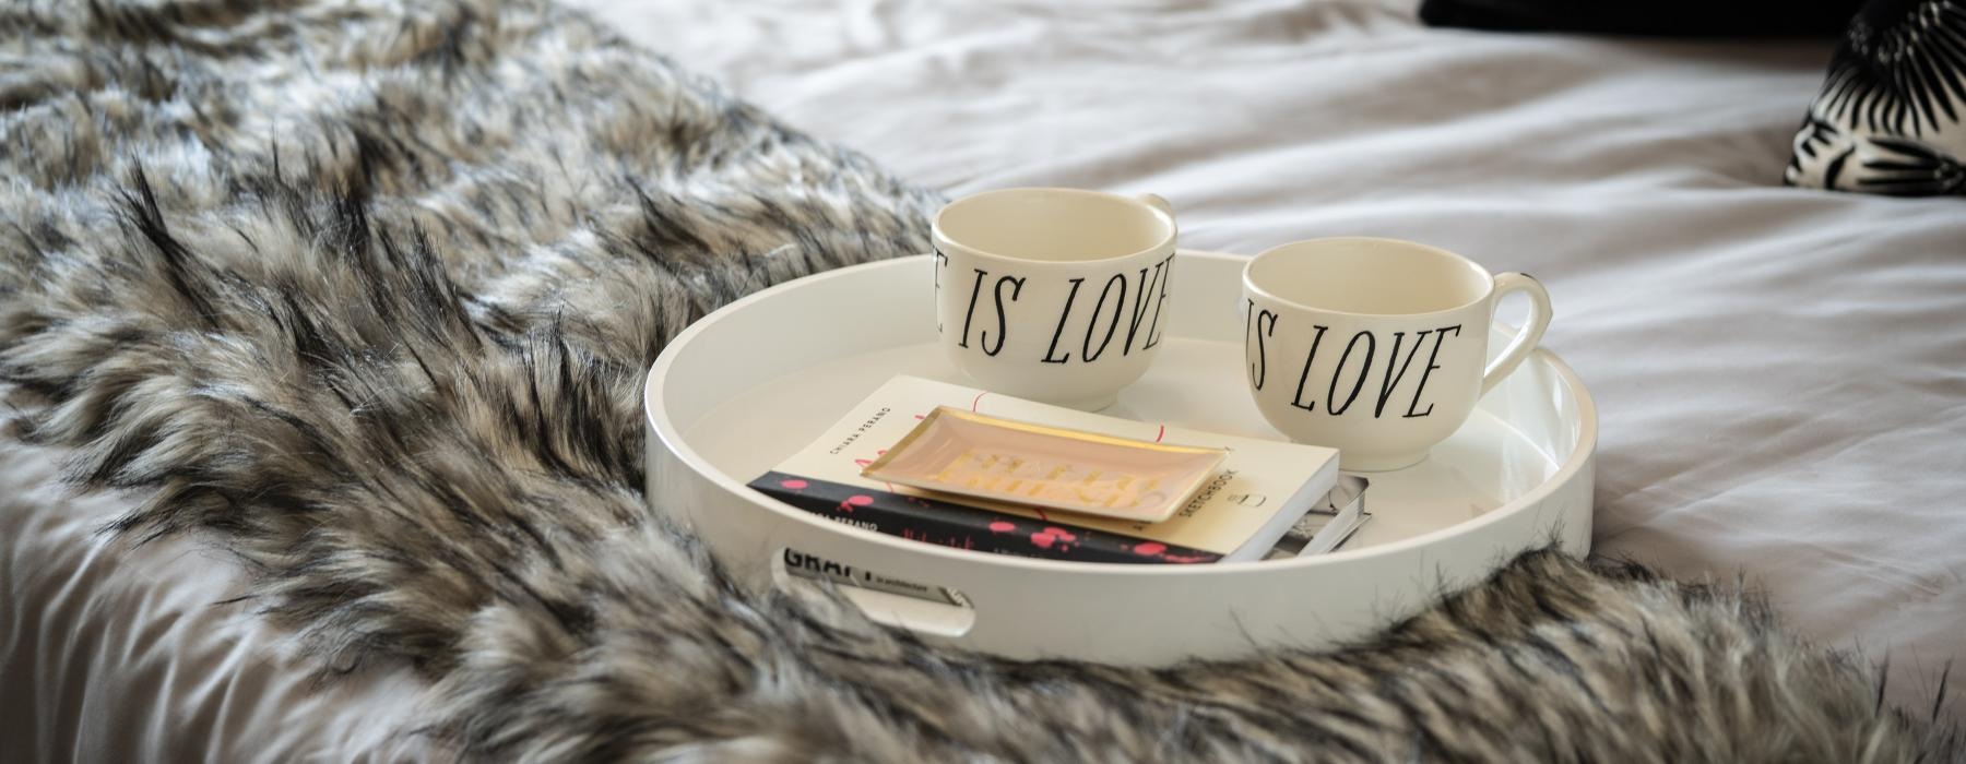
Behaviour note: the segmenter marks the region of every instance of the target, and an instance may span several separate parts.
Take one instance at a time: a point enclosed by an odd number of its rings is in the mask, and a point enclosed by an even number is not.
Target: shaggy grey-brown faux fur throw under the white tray
[[[1917,760],[1734,591],[1530,554],[1331,654],[1123,670],[741,591],[643,503],[641,381],[938,196],[541,2],[0,8],[8,436],[201,534],[324,676],[484,760]],[[92,723],[114,725],[114,719]]]

